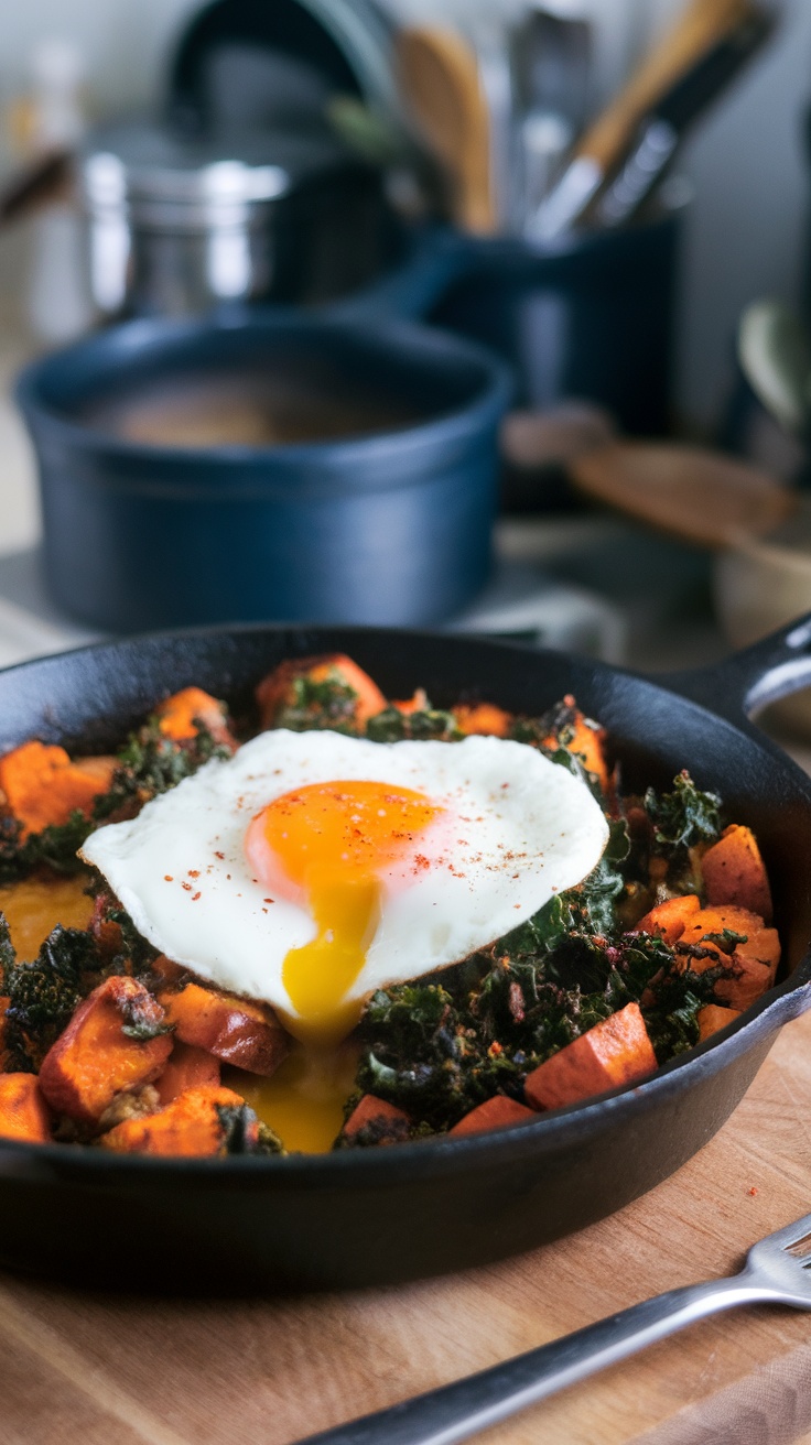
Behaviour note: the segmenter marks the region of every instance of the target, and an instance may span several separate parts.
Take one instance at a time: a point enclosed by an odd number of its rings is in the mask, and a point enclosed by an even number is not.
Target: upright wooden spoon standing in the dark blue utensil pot
[[[398,35],[398,74],[425,144],[448,172],[455,223],[492,234],[490,114],[473,49],[455,30],[411,26]]]

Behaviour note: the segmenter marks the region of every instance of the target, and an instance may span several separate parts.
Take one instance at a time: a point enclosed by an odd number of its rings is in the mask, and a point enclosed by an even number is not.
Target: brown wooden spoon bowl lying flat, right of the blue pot
[[[571,461],[570,477],[593,500],[705,548],[766,536],[798,507],[772,477],[698,447],[612,442]]]

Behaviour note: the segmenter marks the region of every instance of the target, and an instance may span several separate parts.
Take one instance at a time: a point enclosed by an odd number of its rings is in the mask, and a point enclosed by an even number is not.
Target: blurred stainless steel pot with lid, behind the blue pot
[[[328,301],[386,254],[380,178],[327,134],[186,140],[119,124],[91,136],[80,176],[106,319]]]

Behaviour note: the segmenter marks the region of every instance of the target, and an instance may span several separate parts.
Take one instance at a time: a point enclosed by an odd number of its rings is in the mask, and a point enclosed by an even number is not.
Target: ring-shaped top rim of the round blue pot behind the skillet
[[[155,344],[160,338],[172,342],[194,340],[195,335],[210,335],[211,332],[262,332],[262,331],[292,331],[301,335],[306,332],[322,332],[335,335],[347,332],[351,337],[373,341],[387,340],[392,348],[402,342],[406,347],[421,345],[426,351],[445,353],[450,358],[477,366],[481,370],[481,386],[473,400],[452,407],[428,420],[411,426],[393,428],[392,431],[372,432],[361,436],[338,438],[335,441],[292,442],[272,447],[153,447],[145,442],[133,442],[104,432],[94,426],[87,426],[61,413],[49,400],[42,396],[42,386],[48,381],[53,370],[61,370],[72,358],[98,351],[104,347],[114,350],[124,347],[126,353],[137,354],[150,341]],[[419,358],[416,358],[419,361]],[[223,464],[239,462],[243,467],[257,468],[280,465],[324,465],[327,461],[351,465],[361,464],[367,454],[373,452],[374,464],[385,464],[389,451],[402,452],[403,445],[421,448],[425,445],[448,444],[460,436],[474,435],[480,429],[493,425],[509,406],[515,390],[515,379],[510,367],[503,363],[487,347],[460,338],[452,332],[441,331],[437,327],[419,325],[409,321],[385,318],[380,322],[356,321],[330,316],[308,316],[298,311],[282,308],[253,308],[249,314],[237,318],[210,315],[184,321],[166,319],[134,319],[110,327],[106,331],[82,338],[68,347],[49,353],[26,366],[14,383],[14,397],[29,428],[46,428],[51,436],[58,436],[74,447],[95,454],[108,454],[126,458],[129,462],[159,464],[162,467],[185,468],[194,464],[198,468],[221,467]]]

